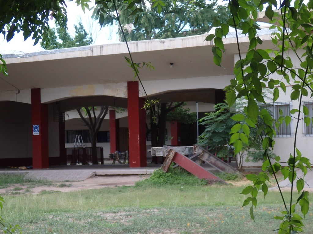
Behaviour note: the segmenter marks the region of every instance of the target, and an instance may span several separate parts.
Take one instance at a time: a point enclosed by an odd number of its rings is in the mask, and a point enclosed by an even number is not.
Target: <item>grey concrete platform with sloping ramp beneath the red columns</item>
[[[160,164],[148,164],[145,168],[129,168],[128,164],[51,166],[49,169],[20,170],[2,168],[1,173],[26,174],[26,178],[50,181],[82,181],[95,175],[146,175],[152,174]]]

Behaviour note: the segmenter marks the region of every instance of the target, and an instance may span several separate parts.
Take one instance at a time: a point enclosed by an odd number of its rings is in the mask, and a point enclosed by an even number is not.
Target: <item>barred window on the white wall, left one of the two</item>
[[[269,114],[273,116],[273,119],[278,120],[280,117],[280,110],[282,111],[282,115],[290,115],[290,108],[291,103],[290,102],[278,102],[278,103],[269,103],[266,105],[263,105],[263,108],[266,108],[269,111]],[[262,108],[262,107],[261,107]],[[277,137],[292,137],[292,121],[290,124],[286,126],[285,121],[280,124],[278,127],[274,125],[276,136]]]

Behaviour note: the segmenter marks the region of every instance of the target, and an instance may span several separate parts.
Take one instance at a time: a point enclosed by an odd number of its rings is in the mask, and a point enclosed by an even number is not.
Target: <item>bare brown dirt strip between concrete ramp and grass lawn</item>
[[[133,186],[137,181],[144,180],[150,175],[107,175],[95,176],[84,181],[77,182],[55,182],[52,186],[38,186],[29,188],[27,185],[21,186],[15,184],[8,188],[0,189],[0,194],[3,193],[32,193],[38,194],[42,191],[79,191],[82,189],[115,187],[115,186]],[[18,188],[18,190],[16,189]]]

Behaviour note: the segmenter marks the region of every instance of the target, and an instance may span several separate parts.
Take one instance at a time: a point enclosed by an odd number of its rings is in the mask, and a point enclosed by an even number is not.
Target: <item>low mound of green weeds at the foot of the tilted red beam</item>
[[[155,170],[153,174],[143,180],[136,182],[136,187],[160,187],[164,185],[172,186],[194,186],[207,185],[207,181],[199,179],[181,167],[172,168],[165,173],[161,168]]]

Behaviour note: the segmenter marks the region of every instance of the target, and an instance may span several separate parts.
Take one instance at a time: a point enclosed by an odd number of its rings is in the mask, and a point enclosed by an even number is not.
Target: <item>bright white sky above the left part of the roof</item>
[[[81,9],[81,6],[77,6],[74,2],[66,2],[67,5],[67,27],[68,32],[71,36],[75,35],[75,29],[74,24],[78,25],[79,18],[82,18],[83,25],[85,27],[85,30],[89,33],[88,28],[90,27],[90,24],[92,22],[91,14],[92,11],[88,11],[88,9],[85,9],[85,13]],[[90,7],[92,7],[93,4],[90,4]],[[49,23],[50,27],[54,26],[54,20],[51,21],[51,24]],[[117,26],[113,27],[103,27],[100,30],[100,26],[98,22],[94,22],[93,27],[96,27],[94,30],[94,38],[95,41],[93,42],[93,45],[101,45],[101,44],[108,44],[112,42],[118,41],[118,37],[116,36],[117,32]],[[112,40],[110,40],[110,37],[112,37]],[[35,51],[42,51],[44,50],[40,46],[40,42],[36,46],[33,46],[34,40],[29,37],[26,41],[24,41],[23,32],[15,33],[14,37],[11,41],[7,42],[5,37],[3,37],[3,34],[0,35],[0,54],[5,53],[12,53],[13,51],[21,51],[21,52],[35,52]]]

